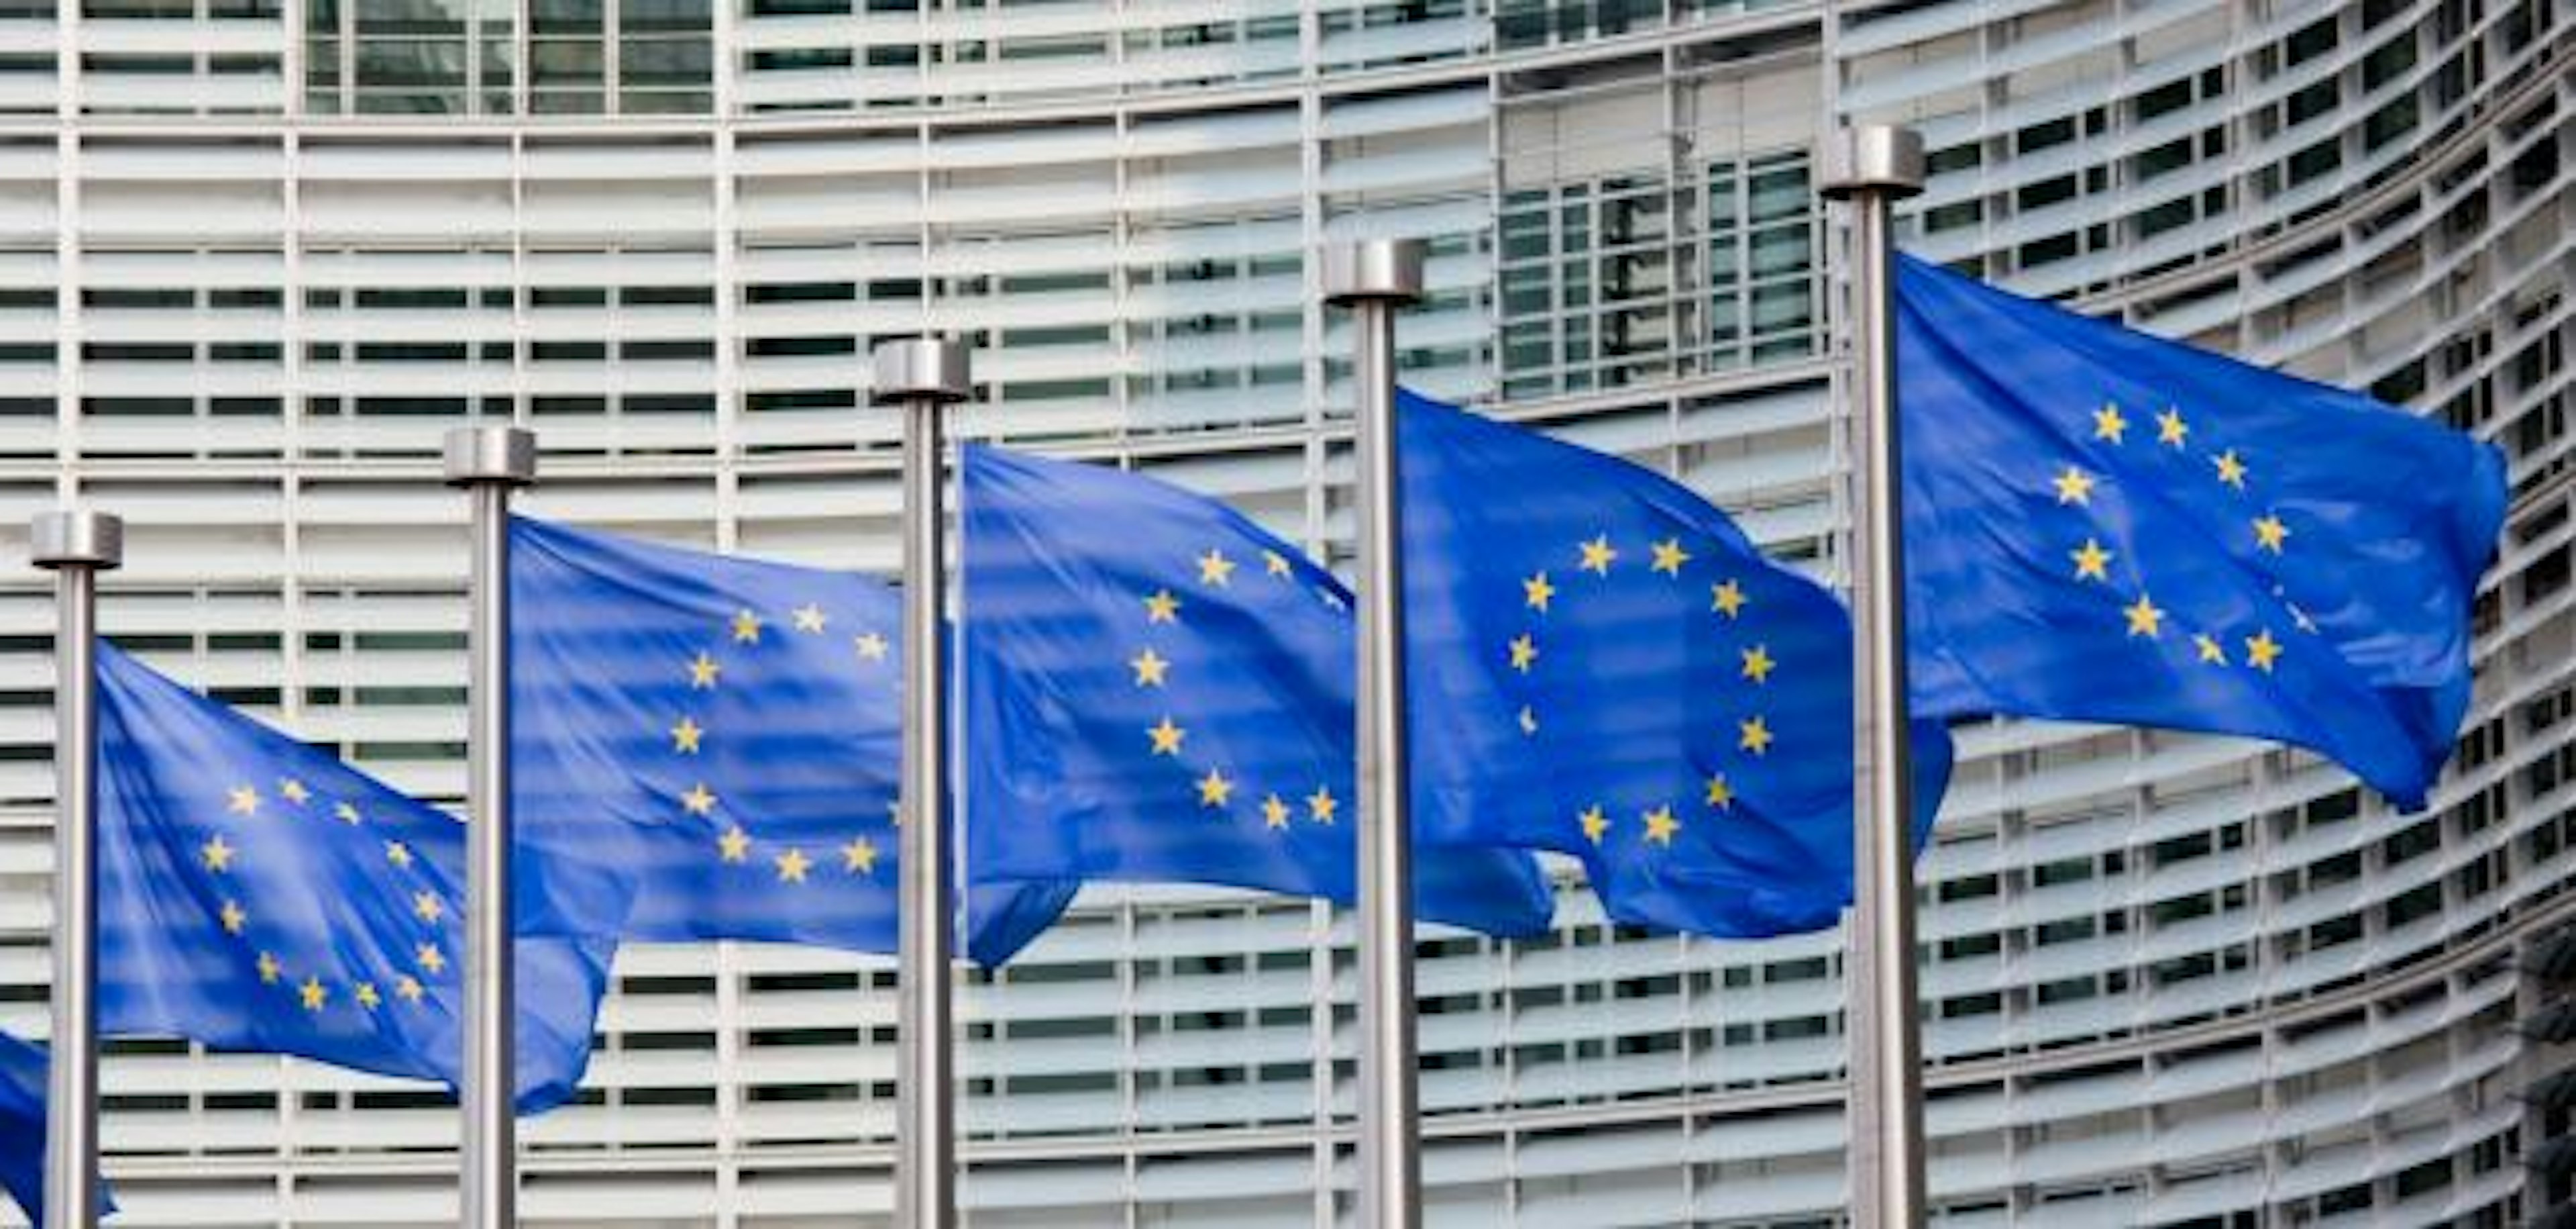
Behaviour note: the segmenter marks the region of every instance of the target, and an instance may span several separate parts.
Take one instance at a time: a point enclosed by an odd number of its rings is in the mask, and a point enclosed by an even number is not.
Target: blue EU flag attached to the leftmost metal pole
[[[572,1098],[608,946],[518,943],[518,1105]],[[98,644],[98,1028],[464,1074],[464,824]]]

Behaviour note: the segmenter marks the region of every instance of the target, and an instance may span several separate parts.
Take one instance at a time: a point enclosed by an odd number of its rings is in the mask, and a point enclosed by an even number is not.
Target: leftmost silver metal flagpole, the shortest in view
[[[54,1041],[44,1110],[44,1224],[98,1224],[98,572],[126,523],[36,513],[28,562],[54,572]]]

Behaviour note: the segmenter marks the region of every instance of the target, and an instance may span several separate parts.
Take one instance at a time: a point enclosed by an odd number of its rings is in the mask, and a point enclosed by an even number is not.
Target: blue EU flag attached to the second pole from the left
[[[894,587],[526,518],[510,585],[523,930],[894,951]],[[966,951],[1072,891],[969,894]]]

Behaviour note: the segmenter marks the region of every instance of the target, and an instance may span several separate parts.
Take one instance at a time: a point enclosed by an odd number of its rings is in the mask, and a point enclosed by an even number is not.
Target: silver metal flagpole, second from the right
[[[1414,1087],[1414,868],[1404,745],[1404,559],[1396,469],[1396,309],[1422,299],[1422,240],[1324,252],[1350,307],[1360,472],[1360,1226],[1422,1224]]]

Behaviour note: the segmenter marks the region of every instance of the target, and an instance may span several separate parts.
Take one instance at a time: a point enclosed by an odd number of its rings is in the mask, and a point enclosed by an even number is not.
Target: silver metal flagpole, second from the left
[[[456,428],[446,477],[474,505],[466,618],[466,1080],[464,1216],[518,1224],[518,1007],[510,948],[510,492],[536,482],[536,433]]]

